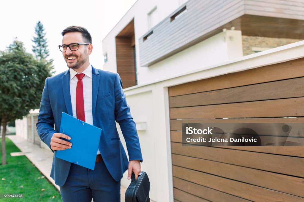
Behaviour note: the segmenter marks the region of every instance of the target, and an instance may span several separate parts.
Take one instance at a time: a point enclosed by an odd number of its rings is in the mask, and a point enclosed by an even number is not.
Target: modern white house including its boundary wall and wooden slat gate
[[[300,0],[136,1],[102,47],[151,199],[304,200],[302,147],[181,146],[182,123],[304,123],[303,39]]]

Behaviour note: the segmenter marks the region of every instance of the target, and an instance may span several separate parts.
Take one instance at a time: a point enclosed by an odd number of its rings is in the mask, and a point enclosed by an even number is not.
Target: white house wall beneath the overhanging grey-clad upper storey
[[[137,68],[138,84],[157,81],[242,56],[241,31],[227,30],[154,65]]]

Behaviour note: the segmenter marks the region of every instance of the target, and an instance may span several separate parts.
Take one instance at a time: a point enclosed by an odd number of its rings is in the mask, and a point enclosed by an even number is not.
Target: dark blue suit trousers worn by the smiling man
[[[94,170],[71,163],[67,181],[60,186],[64,202],[120,202],[120,181],[115,181],[105,163],[95,163]]]

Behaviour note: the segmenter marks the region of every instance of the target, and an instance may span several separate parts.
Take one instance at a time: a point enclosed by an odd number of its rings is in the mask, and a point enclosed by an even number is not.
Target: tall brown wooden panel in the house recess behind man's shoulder
[[[116,65],[123,88],[135,86],[136,72],[131,37],[116,37]]]

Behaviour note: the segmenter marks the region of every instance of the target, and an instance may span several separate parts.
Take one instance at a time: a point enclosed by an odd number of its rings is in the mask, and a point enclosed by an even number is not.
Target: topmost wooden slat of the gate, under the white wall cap
[[[168,88],[169,97],[211,90],[246,86],[304,76],[304,58],[268,65],[247,71],[234,72]],[[286,71],[288,69],[288,71]]]

